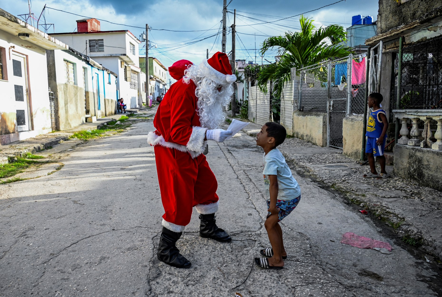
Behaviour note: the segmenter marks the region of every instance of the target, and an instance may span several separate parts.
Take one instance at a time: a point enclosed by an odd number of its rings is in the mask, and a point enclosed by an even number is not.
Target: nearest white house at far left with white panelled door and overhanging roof
[[[69,47],[0,9],[0,144],[52,130],[46,50]]]

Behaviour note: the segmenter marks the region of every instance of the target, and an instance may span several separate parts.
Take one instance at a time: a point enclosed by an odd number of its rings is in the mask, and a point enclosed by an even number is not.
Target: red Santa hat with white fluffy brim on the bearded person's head
[[[236,76],[232,74],[229,57],[225,53],[217,52],[209,60],[203,60],[200,68],[205,77],[221,85],[232,84]]]

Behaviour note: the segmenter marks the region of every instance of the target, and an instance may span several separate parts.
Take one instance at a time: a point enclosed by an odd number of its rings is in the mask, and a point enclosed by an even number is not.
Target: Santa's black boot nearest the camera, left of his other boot
[[[179,253],[176,247],[176,241],[179,240],[183,232],[173,232],[163,227],[160,236],[160,244],[158,244],[158,252],[156,256],[158,260],[177,268],[189,268],[191,263]]]

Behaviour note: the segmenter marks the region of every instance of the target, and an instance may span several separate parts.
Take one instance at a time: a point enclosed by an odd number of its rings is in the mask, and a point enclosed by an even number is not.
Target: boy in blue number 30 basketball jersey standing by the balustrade
[[[368,96],[368,107],[373,108],[367,123],[367,145],[365,152],[370,164],[370,172],[364,174],[365,178],[376,177],[376,179],[386,179],[390,174],[385,171],[385,133],[388,130],[388,121],[385,111],[380,105],[384,98],[380,93],[371,93]],[[374,157],[377,157],[379,165],[381,165],[381,173],[378,175],[374,165]]]

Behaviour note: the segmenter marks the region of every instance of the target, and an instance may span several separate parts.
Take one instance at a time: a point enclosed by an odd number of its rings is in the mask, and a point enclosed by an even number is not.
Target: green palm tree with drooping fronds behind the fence
[[[301,31],[285,36],[274,36],[264,40],[261,54],[273,46],[278,46],[280,60],[276,64],[267,65],[259,72],[257,85],[267,92],[267,81],[274,83],[274,95],[280,97],[284,83],[290,80],[290,69],[300,69],[304,66],[314,65],[327,59],[346,57],[351,53],[351,48],[339,44],[345,41],[346,32],[342,26],[330,25],[316,28],[312,19],[301,15]]]

